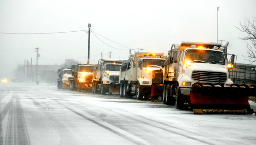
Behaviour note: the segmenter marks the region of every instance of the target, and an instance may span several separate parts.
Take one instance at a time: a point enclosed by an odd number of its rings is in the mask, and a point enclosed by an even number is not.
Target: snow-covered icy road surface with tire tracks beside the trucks
[[[255,115],[194,115],[151,101],[0,85],[0,145],[252,145]]]

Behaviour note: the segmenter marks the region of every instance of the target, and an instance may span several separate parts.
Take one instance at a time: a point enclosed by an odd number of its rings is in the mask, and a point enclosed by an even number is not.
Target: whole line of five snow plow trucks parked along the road
[[[228,44],[181,42],[173,44],[166,56],[134,52],[127,60],[72,65],[58,70],[58,89],[162,100],[177,109],[190,108],[194,114],[252,114],[248,97],[256,96],[256,86],[230,80],[236,56],[227,53]]]

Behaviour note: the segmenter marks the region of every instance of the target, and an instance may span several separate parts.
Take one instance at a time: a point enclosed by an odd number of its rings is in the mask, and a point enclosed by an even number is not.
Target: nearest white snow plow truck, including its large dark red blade
[[[252,114],[248,97],[256,96],[256,86],[233,84],[229,79],[234,55],[227,59],[228,44],[173,44],[163,63],[163,103],[177,109],[190,107],[194,114]]]

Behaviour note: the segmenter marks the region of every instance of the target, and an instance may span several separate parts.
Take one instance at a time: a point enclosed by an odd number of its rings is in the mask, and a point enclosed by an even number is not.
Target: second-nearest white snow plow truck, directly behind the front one
[[[120,97],[137,100],[152,98],[154,84],[163,84],[164,53],[135,52],[128,60],[123,61],[119,74]],[[161,87],[155,88],[154,95],[161,95]]]

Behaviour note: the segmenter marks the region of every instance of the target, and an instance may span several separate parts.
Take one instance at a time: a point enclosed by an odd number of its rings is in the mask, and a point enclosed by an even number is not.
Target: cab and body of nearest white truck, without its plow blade
[[[229,79],[231,65],[224,54],[225,48],[227,46],[218,43],[182,42],[181,45],[172,45],[164,63],[163,103],[174,104],[180,100],[190,104],[191,88],[196,83],[233,84]]]

